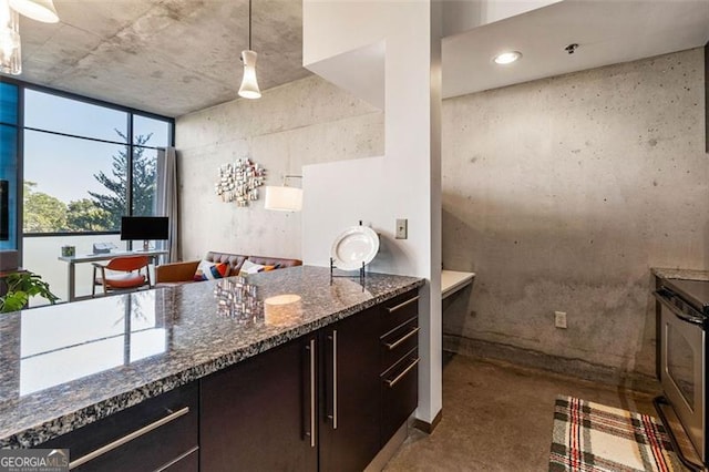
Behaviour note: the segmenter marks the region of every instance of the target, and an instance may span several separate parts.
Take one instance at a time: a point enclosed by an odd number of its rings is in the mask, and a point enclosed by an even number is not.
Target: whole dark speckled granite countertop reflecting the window
[[[0,315],[0,447],[40,444],[423,283],[330,285],[328,268],[301,266]]]

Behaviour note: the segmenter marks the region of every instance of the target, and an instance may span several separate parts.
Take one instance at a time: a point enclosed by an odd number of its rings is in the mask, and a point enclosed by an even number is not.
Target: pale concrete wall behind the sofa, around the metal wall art
[[[304,164],[381,155],[383,114],[328,82],[310,76],[176,121],[184,259],[207,250],[300,257],[300,215],[239,208],[215,195],[217,168],[250,157],[280,185]],[[300,186],[300,182],[292,181]]]

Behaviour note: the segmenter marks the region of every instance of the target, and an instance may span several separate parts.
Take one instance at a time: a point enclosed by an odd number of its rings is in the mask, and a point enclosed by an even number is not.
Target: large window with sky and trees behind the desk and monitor
[[[117,233],[155,214],[169,119],[24,89],[23,233]]]

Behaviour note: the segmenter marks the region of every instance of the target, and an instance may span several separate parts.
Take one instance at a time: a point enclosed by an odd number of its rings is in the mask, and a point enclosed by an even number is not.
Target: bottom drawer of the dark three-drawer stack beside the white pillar
[[[419,353],[413,349],[381,376],[383,447],[419,403]]]

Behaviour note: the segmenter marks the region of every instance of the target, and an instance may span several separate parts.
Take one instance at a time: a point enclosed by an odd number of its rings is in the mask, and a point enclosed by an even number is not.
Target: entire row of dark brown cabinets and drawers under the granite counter
[[[361,471],[417,407],[417,294],[42,447],[80,470]]]

